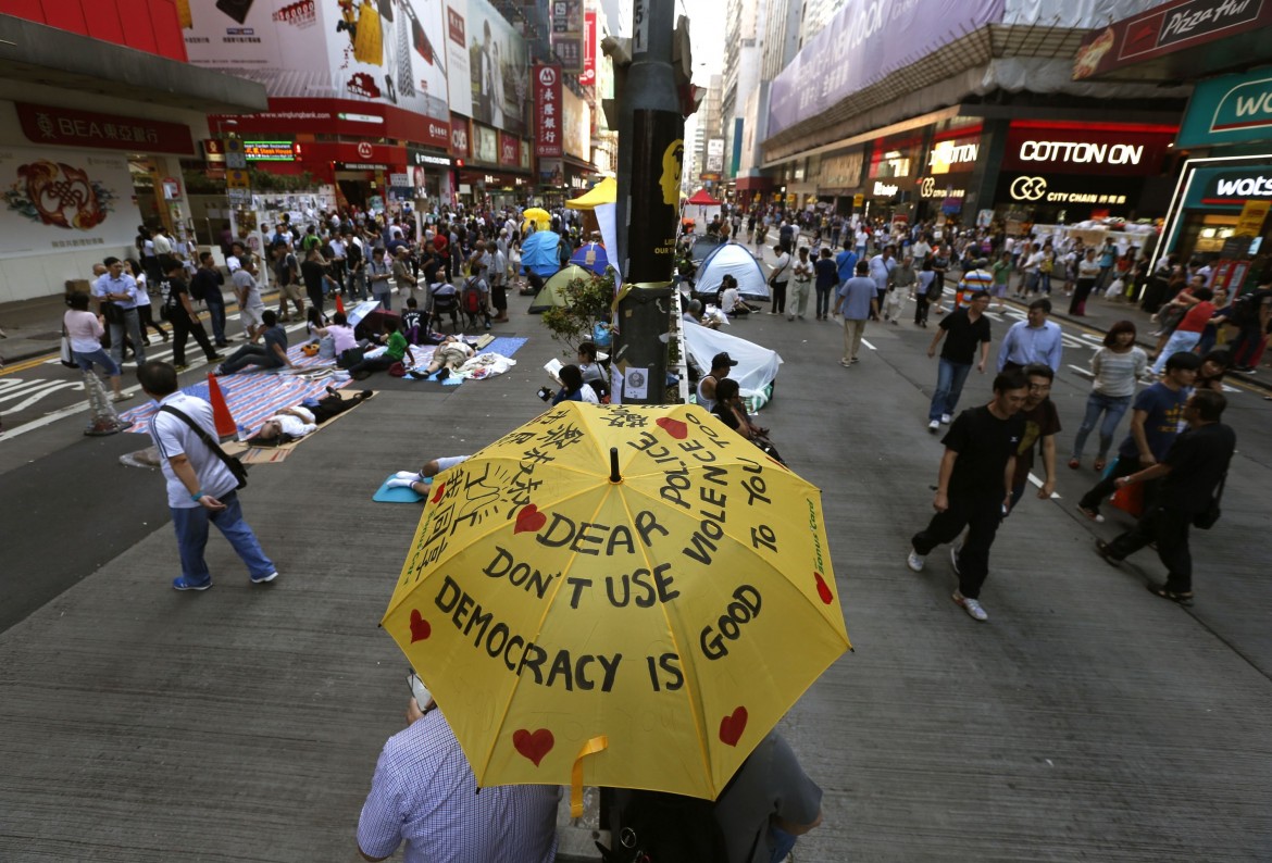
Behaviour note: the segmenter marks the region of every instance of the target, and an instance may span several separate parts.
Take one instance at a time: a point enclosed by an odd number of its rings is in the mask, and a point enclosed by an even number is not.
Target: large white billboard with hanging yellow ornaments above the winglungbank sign
[[[337,121],[351,113],[384,126],[394,109],[446,119],[441,0],[190,0],[190,62],[263,84],[280,118],[338,99]]]

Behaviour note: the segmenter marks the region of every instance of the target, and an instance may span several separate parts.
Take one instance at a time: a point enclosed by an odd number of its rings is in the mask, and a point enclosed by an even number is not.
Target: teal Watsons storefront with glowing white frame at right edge
[[[1238,290],[1264,275],[1272,225],[1272,67],[1198,81],[1177,146],[1188,159],[1159,255],[1216,261]]]

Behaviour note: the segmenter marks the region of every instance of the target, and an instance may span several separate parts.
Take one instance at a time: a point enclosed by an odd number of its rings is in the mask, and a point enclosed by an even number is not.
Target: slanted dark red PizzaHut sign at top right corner
[[[1215,39],[1272,25],[1267,0],[1173,0],[1100,31],[1077,48],[1074,79],[1104,75]]]

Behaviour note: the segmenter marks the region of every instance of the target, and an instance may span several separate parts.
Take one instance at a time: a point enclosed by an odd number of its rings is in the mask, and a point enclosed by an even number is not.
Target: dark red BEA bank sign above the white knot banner
[[[190,127],[158,119],[71,111],[52,105],[15,102],[22,132],[41,146],[128,150],[131,153],[176,153],[193,155]]]

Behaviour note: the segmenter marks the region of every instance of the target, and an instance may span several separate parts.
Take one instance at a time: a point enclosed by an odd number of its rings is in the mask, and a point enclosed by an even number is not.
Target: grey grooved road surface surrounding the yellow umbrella
[[[0,442],[0,600],[29,609],[0,632],[0,859],[356,859],[404,699],[377,622],[418,516],[370,494],[542,409],[539,367],[561,346],[520,308],[511,327],[532,341],[508,375],[387,388],[253,470],[248,519],[282,572],[266,588],[216,539],[218,586],[168,587],[162,480],[114,459],[130,436],[90,441],[69,417]],[[1127,521],[1081,519],[1095,475],[1061,466],[1060,497],[1027,496],[1000,531],[978,624],[949,599],[944,549],[921,574],[904,566],[941,452],[926,428],[932,330],[871,324],[852,369],[834,323],[758,315],[729,332],[785,360],[763,418],[823,488],[856,647],[781,726],[826,791],[799,863],[1269,859],[1272,403],[1230,394],[1240,451],[1224,520],[1193,536],[1194,608],[1144,590],[1163,574],[1151,552],[1122,569],[1093,553]],[[1091,344],[1066,332],[1061,452]],[[964,407],[988,388],[973,374]]]

